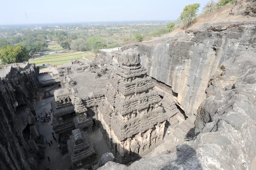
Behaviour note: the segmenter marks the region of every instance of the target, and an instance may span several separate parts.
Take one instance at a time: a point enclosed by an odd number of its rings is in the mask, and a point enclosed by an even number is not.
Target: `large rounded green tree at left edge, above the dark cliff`
[[[3,46],[0,49],[0,59],[4,64],[28,61],[29,52],[22,46]]]

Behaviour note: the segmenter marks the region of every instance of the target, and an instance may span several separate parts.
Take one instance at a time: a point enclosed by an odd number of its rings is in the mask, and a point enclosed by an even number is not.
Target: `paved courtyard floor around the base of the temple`
[[[38,101],[36,105],[36,116],[41,116],[40,111],[43,112],[49,112],[51,109],[50,102],[54,99],[54,97],[48,97],[43,99],[42,101]],[[52,138],[52,119],[48,123],[42,124],[41,121],[39,121],[37,124],[39,126],[39,132],[44,135],[44,142],[53,141],[53,144],[51,146],[47,145],[44,149],[45,156],[43,159],[40,160],[40,170],[45,170],[45,168],[49,168],[50,170],[65,170],[70,169],[70,157],[68,153],[62,155],[61,150],[58,148],[58,141],[55,142]],[[151,152],[145,154],[142,158],[152,157],[160,155],[161,153],[164,153],[166,150],[170,150],[171,147],[173,147],[172,142],[172,134],[167,135],[167,129],[165,130],[164,135],[164,143],[160,144],[159,146],[155,147],[151,150]],[[171,132],[172,133],[172,132]],[[58,139],[58,134],[55,134],[55,137]],[[106,144],[103,135],[98,128],[97,130],[94,130],[92,134],[89,135],[90,139],[93,143],[93,147],[96,150],[96,159],[97,161],[100,160],[101,156],[104,153],[110,153],[111,151],[108,148],[108,145]],[[50,157],[50,161],[48,161],[47,156]],[[131,164],[132,162],[129,162],[128,164]]]

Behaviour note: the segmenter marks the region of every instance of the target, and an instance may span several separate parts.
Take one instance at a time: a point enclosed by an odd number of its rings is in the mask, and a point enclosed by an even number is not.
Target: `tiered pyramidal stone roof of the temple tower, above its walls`
[[[169,118],[146,72],[140,65],[139,53],[128,49],[122,52],[119,67],[109,76],[107,100],[102,102],[99,112],[119,141],[152,129]]]

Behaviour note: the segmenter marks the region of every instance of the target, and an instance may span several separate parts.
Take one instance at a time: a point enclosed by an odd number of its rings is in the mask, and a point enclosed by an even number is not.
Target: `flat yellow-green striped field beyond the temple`
[[[68,53],[55,53],[44,55],[42,57],[35,58],[30,60],[29,63],[35,64],[51,64],[51,65],[60,65],[64,63],[69,63],[71,60],[81,59],[84,55],[88,55],[88,52],[68,52]]]

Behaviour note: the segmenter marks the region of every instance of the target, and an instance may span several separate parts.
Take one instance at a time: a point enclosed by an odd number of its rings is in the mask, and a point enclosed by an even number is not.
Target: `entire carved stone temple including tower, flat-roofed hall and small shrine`
[[[139,52],[128,49],[119,55],[118,65],[72,61],[58,67],[62,88],[55,90],[51,102],[52,125],[62,153],[68,151],[72,158],[72,167],[99,165],[81,156],[89,148],[79,151],[98,128],[105,139],[104,148],[113,153],[116,162],[125,164],[163,143],[166,121],[177,114],[175,103],[167,102],[167,95],[161,95],[162,100],[140,65]],[[106,152],[95,143],[93,146],[99,162]]]

